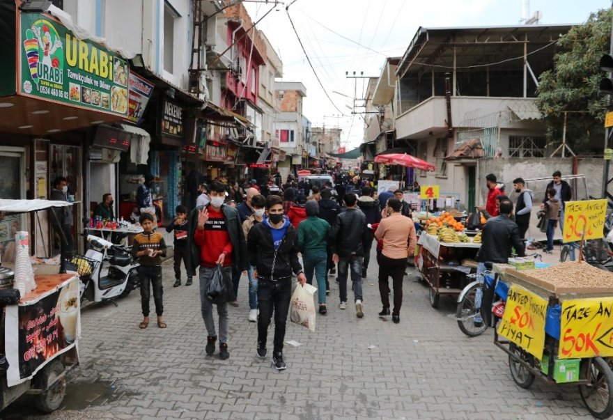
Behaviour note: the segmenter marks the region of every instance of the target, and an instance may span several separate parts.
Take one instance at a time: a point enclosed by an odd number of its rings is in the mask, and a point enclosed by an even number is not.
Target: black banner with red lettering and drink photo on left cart
[[[9,387],[32,378],[57,355],[75,347],[79,334],[79,278],[70,274],[58,283],[56,276],[39,281],[49,289],[33,300],[6,306],[5,343]],[[49,287],[46,283],[52,283]],[[26,295],[27,297],[28,295]]]

